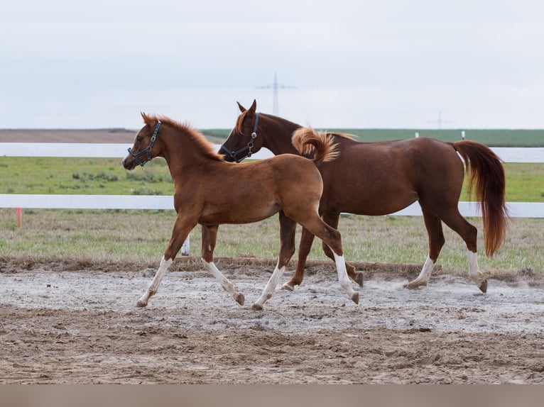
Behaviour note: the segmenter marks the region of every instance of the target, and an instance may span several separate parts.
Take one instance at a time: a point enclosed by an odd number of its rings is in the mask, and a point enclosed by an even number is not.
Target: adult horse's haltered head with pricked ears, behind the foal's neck
[[[218,153],[224,154],[225,161],[240,162],[263,147],[263,140],[259,138],[259,113],[256,113],[257,102],[254,100],[249,109],[238,104],[240,115],[236,125]]]

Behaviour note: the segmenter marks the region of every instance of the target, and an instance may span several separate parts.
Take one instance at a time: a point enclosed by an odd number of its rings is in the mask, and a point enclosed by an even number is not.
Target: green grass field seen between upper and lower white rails
[[[507,163],[506,199],[544,202],[544,164]],[[109,158],[0,157],[0,194],[171,195],[166,162],[126,171]],[[469,201],[466,193],[462,201]]]

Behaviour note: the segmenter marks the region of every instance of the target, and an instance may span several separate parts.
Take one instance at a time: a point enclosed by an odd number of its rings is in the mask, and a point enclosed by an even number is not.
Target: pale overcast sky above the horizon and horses
[[[544,1],[6,0],[0,128],[544,128]]]

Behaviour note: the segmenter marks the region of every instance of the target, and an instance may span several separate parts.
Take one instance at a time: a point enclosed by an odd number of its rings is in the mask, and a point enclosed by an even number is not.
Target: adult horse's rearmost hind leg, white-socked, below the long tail
[[[474,284],[485,293],[487,291],[487,280],[482,277],[480,274],[480,269],[478,266],[478,256],[477,256],[477,236],[478,230],[474,225],[471,225],[467,219],[461,216],[457,206],[455,211],[450,211],[449,213],[442,216],[442,221],[448,225],[452,230],[455,230],[464,240],[467,245],[467,257],[469,262],[469,277],[472,279]]]

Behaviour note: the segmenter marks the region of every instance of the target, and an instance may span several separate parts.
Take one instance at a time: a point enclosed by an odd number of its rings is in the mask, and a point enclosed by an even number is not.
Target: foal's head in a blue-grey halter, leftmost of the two
[[[146,113],[141,113],[143,123],[146,126],[138,131],[134,138],[134,145],[129,148],[129,155],[122,161],[123,167],[126,169],[134,169],[136,165],[143,165],[151,161],[158,155],[158,146],[155,141],[158,135],[158,129],[161,127],[161,121],[157,118],[147,116]]]

